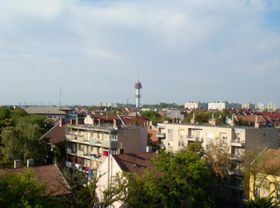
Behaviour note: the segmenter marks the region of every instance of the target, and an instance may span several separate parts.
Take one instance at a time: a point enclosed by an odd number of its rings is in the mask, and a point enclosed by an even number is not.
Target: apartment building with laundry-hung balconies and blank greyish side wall
[[[110,154],[146,151],[147,127],[112,124],[66,125],[66,166],[87,172]]]

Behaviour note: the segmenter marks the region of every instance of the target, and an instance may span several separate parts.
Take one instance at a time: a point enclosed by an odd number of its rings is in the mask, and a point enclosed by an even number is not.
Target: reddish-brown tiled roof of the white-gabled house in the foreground
[[[155,155],[156,153],[153,152],[125,153],[113,155],[113,158],[123,171],[141,176],[146,169],[153,170],[153,165],[150,162]]]

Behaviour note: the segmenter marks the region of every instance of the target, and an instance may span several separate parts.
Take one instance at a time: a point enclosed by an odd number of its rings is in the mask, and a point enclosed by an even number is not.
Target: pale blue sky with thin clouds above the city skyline
[[[0,0],[0,105],[274,102],[280,1]]]

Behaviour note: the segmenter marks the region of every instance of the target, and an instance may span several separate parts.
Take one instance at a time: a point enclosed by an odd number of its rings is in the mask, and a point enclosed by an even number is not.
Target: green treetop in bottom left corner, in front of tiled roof
[[[37,183],[36,173],[0,174],[1,207],[63,207],[64,198],[46,193],[48,181]]]

